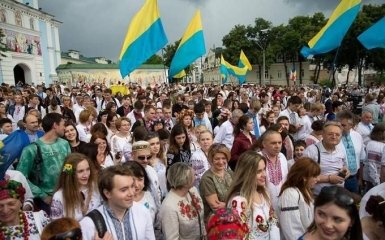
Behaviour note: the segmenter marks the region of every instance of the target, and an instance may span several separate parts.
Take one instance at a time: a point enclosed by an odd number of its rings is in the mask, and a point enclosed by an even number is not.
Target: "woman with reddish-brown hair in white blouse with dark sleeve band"
[[[298,239],[313,221],[312,188],[321,173],[311,158],[302,157],[290,168],[278,199],[278,219],[282,240]]]

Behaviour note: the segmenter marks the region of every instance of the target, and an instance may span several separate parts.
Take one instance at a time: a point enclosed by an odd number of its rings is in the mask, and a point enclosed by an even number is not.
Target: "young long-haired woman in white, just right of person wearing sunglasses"
[[[148,133],[145,141],[150,144],[151,158],[148,162],[150,166],[155,169],[158,175],[161,197],[163,199],[167,194],[166,159],[160,145],[158,133]]]

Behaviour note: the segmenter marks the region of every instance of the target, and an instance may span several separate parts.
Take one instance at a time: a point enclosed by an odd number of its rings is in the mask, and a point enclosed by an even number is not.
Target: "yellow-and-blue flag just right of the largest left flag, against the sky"
[[[201,12],[197,10],[186,32],[183,34],[182,40],[171,61],[169,78],[180,74],[183,69],[205,53],[206,47],[203,37]]]

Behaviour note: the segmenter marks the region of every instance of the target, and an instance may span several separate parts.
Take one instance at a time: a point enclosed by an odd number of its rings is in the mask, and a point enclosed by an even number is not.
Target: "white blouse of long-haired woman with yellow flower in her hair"
[[[87,196],[88,189],[85,189],[82,191],[84,196]],[[87,213],[91,212],[93,209],[98,208],[100,205],[102,205],[101,197],[99,194],[99,191],[93,191],[91,195],[91,200],[88,204],[88,210]],[[52,203],[51,203],[51,218],[52,219],[59,219],[65,216],[65,204],[63,199],[63,189],[59,189],[52,197]],[[77,221],[82,220],[83,214],[81,209],[78,207],[75,209],[75,216],[74,219]]]

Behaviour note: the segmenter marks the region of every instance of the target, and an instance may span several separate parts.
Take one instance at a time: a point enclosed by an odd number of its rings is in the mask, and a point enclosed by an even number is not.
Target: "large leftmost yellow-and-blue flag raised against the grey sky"
[[[132,19],[119,56],[122,77],[129,75],[167,44],[157,0],[146,0]]]

